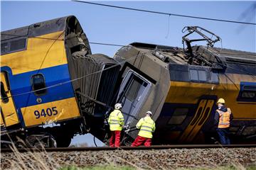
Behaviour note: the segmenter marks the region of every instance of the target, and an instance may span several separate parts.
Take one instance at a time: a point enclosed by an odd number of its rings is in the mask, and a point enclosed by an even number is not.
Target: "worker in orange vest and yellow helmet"
[[[215,112],[215,125],[218,125],[217,132],[220,138],[221,145],[230,145],[229,128],[230,121],[233,119],[233,114],[230,108],[225,107],[225,100],[218,99],[218,109]]]

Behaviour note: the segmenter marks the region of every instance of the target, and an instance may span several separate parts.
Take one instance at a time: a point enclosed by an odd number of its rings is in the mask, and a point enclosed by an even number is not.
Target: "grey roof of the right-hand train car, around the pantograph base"
[[[136,47],[139,51],[152,53],[161,60],[169,58],[168,62],[176,64],[188,64],[185,52],[181,47],[171,47],[166,45],[154,45],[142,42],[133,42],[130,44],[132,47]],[[156,54],[156,51],[159,51]],[[203,45],[193,46],[193,52],[201,54],[206,58],[210,55],[225,58],[226,62],[235,62],[241,64],[256,64],[256,52],[246,52],[240,50],[230,50],[218,47],[206,47]]]

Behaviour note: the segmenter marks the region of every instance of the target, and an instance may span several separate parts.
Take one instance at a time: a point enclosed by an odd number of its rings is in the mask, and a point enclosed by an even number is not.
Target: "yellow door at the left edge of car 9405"
[[[19,123],[18,115],[11,97],[7,74],[1,72],[1,126],[9,127]]]

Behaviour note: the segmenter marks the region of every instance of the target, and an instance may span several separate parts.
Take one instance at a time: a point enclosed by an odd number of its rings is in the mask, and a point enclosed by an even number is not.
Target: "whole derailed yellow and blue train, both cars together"
[[[74,16],[1,32],[1,140],[68,147],[90,132],[107,143],[105,120],[119,102],[129,127],[154,113],[154,144],[210,143],[223,97],[233,142],[255,142],[255,53],[184,40],[186,50],[134,42],[111,58],[92,55]],[[136,135],[127,130],[122,145]]]

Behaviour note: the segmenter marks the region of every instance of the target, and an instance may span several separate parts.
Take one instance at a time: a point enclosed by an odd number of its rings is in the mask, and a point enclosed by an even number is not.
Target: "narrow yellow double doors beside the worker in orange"
[[[213,99],[202,99],[198,103],[196,113],[186,129],[183,131],[179,141],[192,142],[200,132],[206,120],[208,120],[215,101]]]

